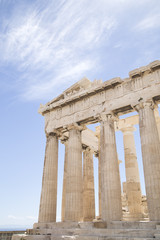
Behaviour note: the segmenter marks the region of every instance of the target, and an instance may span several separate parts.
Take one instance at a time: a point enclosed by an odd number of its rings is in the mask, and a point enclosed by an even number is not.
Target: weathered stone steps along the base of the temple
[[[12,240],[153,240],[160,239],[160,223],[114,221],[107,227],[103,222],[38,223],[27,232]]]

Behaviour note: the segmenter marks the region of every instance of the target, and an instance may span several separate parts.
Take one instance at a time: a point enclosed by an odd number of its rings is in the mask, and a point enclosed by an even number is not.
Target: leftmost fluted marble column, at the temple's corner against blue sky
[[[38,222],[56,222],[58,137],[47,136]]]

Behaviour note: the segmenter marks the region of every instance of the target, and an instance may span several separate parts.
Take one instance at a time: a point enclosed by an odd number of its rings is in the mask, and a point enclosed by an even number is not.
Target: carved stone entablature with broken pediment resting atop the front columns
[[[160,101],[160,61],[133,70],[129,75],[127,79],[114,78],[95,85],[83,78],[51,102],[41,105],[39,112],[45,116],[46,132],[72,123],[96,123],[103,112],[115,115],[133,112],[141,100]]]

